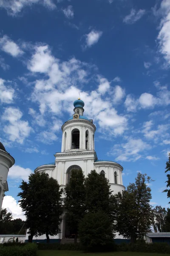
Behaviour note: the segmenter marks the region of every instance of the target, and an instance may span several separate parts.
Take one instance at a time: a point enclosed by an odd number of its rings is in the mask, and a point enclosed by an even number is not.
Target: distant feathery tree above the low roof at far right
[[[154,221],[153,221],[154,231],[155,232],[164,232],[165,218],[167,215],[166,209],[157,205],[153,209],[153,214],[154,214]]]

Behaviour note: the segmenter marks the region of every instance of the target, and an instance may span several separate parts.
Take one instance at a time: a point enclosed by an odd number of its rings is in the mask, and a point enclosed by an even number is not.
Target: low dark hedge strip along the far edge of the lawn
[[[38,244],[39,250],[84,250],[82,245],[80,243],[77,244],[59,244],[59,243],[53,243],[53,244]]]

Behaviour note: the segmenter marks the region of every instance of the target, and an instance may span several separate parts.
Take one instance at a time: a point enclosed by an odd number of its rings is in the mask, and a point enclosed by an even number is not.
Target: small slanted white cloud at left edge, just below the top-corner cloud
[[[22,55],[24,52],[20,49],[20,47],[14,43],[7,35],[4,35],[3,38],[0,38],[0,48],[2,51],[12,55],[13,57],[17,57]]]

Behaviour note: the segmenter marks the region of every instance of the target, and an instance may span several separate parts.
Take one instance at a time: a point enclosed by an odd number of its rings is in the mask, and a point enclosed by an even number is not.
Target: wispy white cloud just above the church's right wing
[[[150,145],[142,139],[130,138],[127,143],[116,144],[111,149],[111,155],[116,156],[117,161],[136,161],[142,157],[141,152],[150,149]]]

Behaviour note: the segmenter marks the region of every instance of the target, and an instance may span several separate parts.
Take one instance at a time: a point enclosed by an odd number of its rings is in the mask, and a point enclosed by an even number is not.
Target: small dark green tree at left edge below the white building
[[[0,212],[0,234],[7,235],[11,230],[12,213],[7,212],[7,209],[1,209]]]

